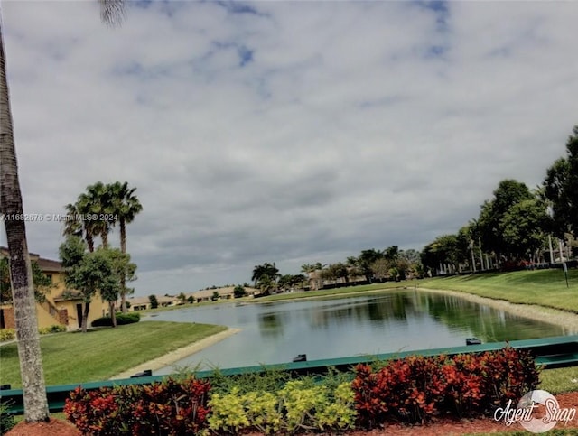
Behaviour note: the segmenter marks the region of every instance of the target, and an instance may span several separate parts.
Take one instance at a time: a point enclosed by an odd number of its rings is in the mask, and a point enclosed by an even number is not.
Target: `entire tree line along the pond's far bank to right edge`
[[[546,171],[536,190],[521,181],[500,181],[493,197],[455,234],[436,237],[421,252],[370,248],[335,264],[303,264],[303,274],[279,274],[275,263],[256,265],[251,280],[263,293],[322,288],[351,282],[376,283],[424,275],[518,268],[561,262],[578,246],[578,125],[566,155]],[[557,256],[554,254],[557,253]]]

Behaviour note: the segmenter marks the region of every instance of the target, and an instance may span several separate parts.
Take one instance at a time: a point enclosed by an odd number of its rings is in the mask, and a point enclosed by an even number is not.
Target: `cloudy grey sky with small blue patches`
[[[127,181],[136,295],[422,250],[499,181],[541,184],[578,124],[578,2],[1,8],[24,212]],[[48,219],[28,246],[58,259]]]

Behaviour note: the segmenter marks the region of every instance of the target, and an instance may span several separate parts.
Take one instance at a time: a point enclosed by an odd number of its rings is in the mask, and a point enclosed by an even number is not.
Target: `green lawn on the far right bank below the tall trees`
[[[569,287],[562,270],[459,275],[418,280],[415,284],[578,313],[578,269],[568,270]]]

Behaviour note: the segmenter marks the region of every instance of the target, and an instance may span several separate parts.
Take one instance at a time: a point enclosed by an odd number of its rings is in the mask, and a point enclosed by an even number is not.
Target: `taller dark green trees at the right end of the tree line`
[[[430,274],[556,263],[571,257],[576,237],[578,125],[566,142],[565,157],[547,169],[541,186],[530,190],[521,181],[500,181],[478,218],[456,234],[436,237],[421,260]]]

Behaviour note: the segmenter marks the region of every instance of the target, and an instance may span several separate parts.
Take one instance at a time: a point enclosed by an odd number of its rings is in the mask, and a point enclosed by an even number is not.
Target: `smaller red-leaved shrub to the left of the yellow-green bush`
[[[186,436],[206,425],[210,384],[190,377],[153,385],[126,385],[70,393],[68,420],[92,436]]]

